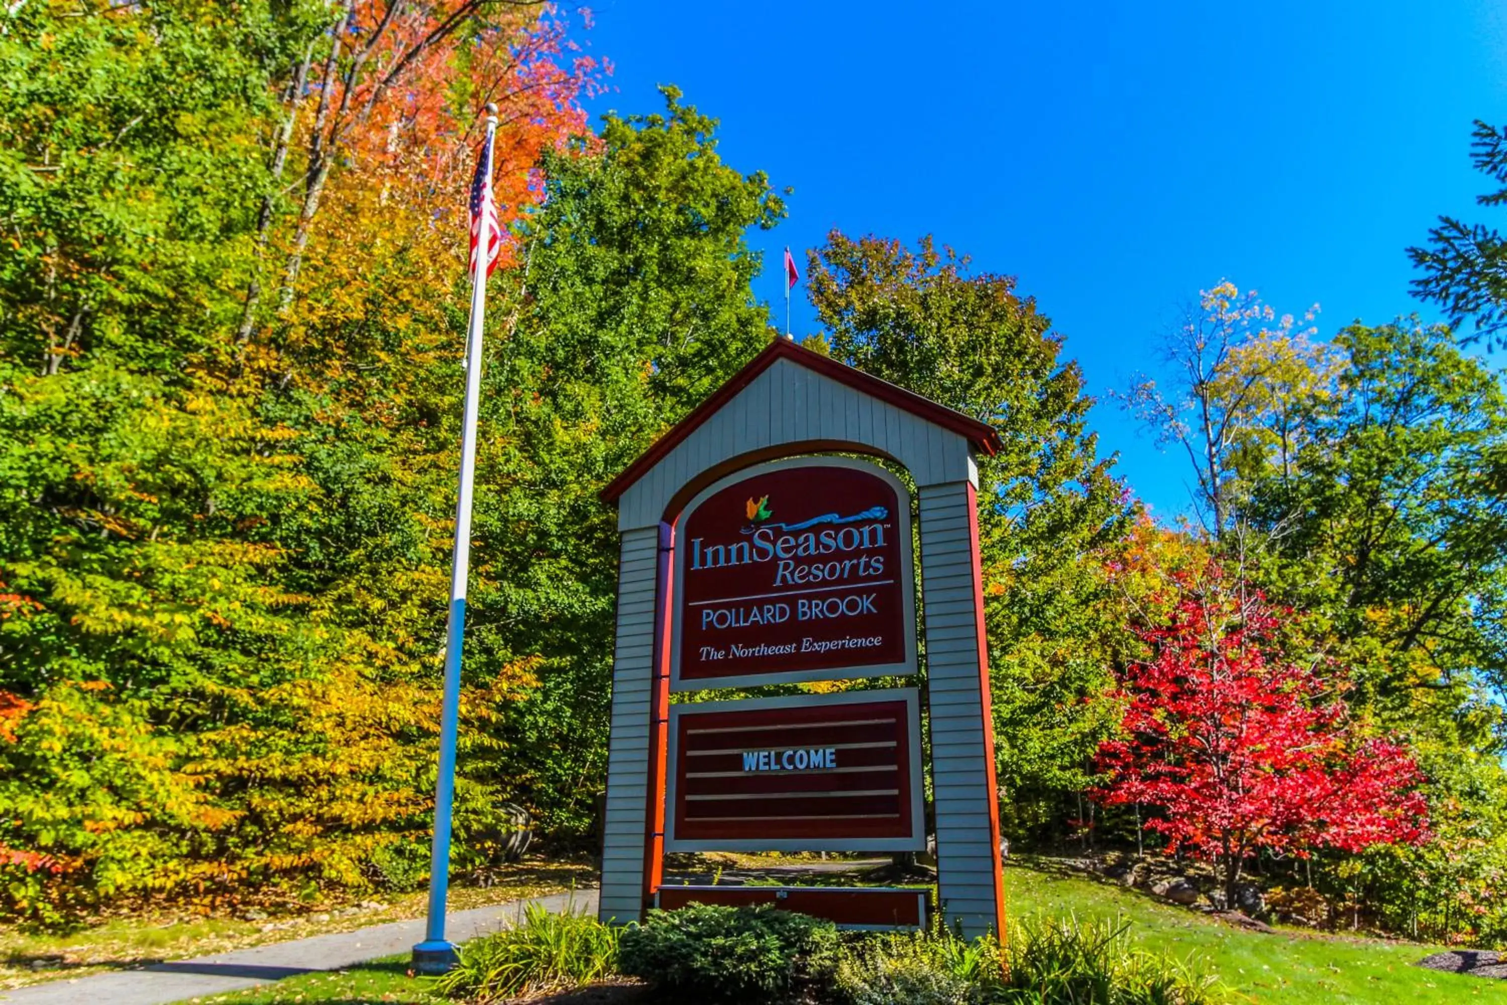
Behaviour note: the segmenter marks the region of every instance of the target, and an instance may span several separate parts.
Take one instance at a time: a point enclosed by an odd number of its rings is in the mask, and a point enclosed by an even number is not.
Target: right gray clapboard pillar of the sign
[[[948,925],[969,937],[996,925],[999,847],[990,826],[969,484],[924,485],[921,591],[936,799],[937,886]]]

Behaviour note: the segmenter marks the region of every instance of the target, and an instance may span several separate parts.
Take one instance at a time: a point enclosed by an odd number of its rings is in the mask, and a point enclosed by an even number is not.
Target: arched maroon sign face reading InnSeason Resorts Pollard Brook
[[[692,500],[675,550],[672,689],[915,672],[910,497],[882,467],[740,472]]]

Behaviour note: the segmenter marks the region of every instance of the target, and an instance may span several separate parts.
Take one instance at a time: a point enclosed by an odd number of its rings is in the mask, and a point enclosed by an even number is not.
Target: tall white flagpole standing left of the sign
[[[497,105],[487,105],[487,190],[491,191],[491,145]],[[455,500],[455,551],[451,564],[451,610],[445,631],[445,698],[440,710],[440,771],[434,780],[434,845],[429,859],[429,921],[413,948],[413,969],[445,973],[455,966],[455,943],[445,937],[445,901],[451,884],[451,814],[455,805],[455,740],[460,732],[461,652],[466,645],[466,579],[470,571],[472,484],[476,475],[476,414],[481,399],[481,330],[487,309],[487,247],[491,214],[482,212],[476,234],[470,324],[466,330],[466,405],[461,423],[461,478]]]

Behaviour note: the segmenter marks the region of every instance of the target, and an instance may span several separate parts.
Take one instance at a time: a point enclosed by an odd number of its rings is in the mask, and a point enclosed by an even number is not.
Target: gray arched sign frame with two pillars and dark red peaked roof
[[[942,922],[969,939],[1004,936],[975,458],[1002,446],[984,422],[775,339],[603,490],[619,532],[603,921],[640,919],[663,887],[677,523],[738,472],[856,454],[897,463],[915,482]]]

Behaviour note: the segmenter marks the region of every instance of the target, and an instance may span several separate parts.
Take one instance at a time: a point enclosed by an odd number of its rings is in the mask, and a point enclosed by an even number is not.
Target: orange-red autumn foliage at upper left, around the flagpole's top
[[[386,9],[359,3],[357,35],[372,30]],[[369,104],[369,111],[342,143],[310,232],[294,315],[297,342],[313,328],[329,338],[378,310],[389,324],[410,322],[420,339],[443,327],[440,307],[466,274],[467,187],[487,102],[497,105],[493,182],[505,228],[543,197],[540,157],[586,133],[577,99],[600,89],[607,68],[571,41],[562,18],[536,17],[533,8],[506,8],[419,50],[399,81],[381,87],[443,15],[439,8],[404,8],[369,57],[374,69],[353,84],[350,101]],[[306,134],[313,121],[312,108],[301,116]],[[505,241],[500,265],[514,265],[514,255]],[[324,348],[335,350],[321,353],[326,359],[341,354],[339,345]]]

